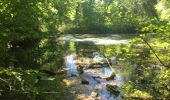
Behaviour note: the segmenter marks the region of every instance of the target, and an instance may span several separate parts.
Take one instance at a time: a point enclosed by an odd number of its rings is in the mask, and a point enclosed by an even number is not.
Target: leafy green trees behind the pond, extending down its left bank
[[[45,52],[40,44],[53,44],[55,39],[48,37],[61,32],[144,33],[150,32],[148,26],[154,32],[155,23],[168,25],[169,4],[167,0],[3,0],[0,66],[38,66],[37,59]]]

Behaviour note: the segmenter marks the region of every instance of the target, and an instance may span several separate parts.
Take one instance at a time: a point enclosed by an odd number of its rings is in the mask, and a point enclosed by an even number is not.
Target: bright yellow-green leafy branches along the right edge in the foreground
[[[167,99],[170,96],[167,85],[170,66],[169,24],[153,19],[141,23],[140,27],[138,37],[127,46],[128,52],[122,54],[126,62],[133,64],[127,66],[132,75],[124,85],[125,97]]]

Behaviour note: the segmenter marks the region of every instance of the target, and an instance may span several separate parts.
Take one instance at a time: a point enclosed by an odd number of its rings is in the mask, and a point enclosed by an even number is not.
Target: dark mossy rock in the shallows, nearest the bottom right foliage
[[[107,84],[106,88],[111,94],[119,96],[120,88],[116,84]]]

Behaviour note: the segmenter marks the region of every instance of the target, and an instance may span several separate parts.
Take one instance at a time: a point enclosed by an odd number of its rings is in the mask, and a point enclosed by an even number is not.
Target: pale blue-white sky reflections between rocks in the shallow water
[[[98,56],[98,55],[97,55]],[[99,58],[101,60],[101,57],[94,56],[95,60]],[[76,54],[69,54],[65,58],[66,62],[65,65],[69,69],[67,71],[68,77],[80,77],[83,79],[86,79],[89,81],[88,86],[94,86],[97,88],[97,90],[88,90],[83,89],[83,93],[90,96],[90,94],[95,91],[97,94],[99,94],[98,99],[100,100],[120,100],[120,96],[115,97],[114,95],[110,94],[109,91],[106,89],[106,84],[115,82],[118,86],[121,85],[122,79],[119,75],[116,75],[115,79],[112,79],[110,81],[106,81],[104,78],[97,78],[97,76],[100,77],[108,77],[111,75],[112,70],[109,67],[103,67],[103,68],[97,68],[97,69],[86,69],[84,70],[84,74],[78,75],[77,71],[77,65],[76,65]],[[96,77],[96,78],[94,78]],[[80,84],[77,84],[77,88]]]

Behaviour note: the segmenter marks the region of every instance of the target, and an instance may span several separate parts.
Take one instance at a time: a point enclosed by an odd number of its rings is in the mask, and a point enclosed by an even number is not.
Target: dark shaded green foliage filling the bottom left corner
[[[60,81],[60,76],[49,77],[38,70],[0,68],[0,99],[60,99],[66,93]],[[56,92],[55,97],[51,91]]]

